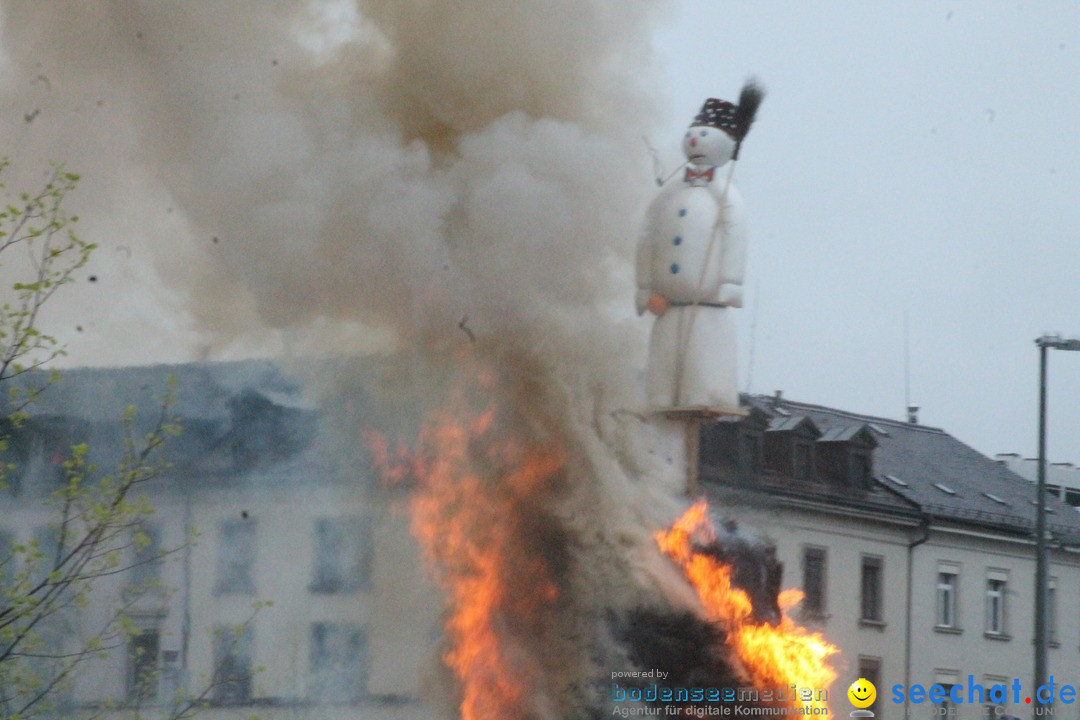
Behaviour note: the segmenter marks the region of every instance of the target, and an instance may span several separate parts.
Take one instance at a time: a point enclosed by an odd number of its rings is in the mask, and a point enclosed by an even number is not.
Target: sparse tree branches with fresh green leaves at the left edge
[[[0,160],[0,173],[8,166],[9,161]],[[33,400],[57,380],[55,372],[30,372],[64,353],[53,336],[39,329],[40,313],[86,266],[95,248],[75,233],[78,217],[64,208],[78,181],[78,175],[54,166],[38,191],[19,194],[0,210],[3,267],[11,271],[13,263],[8,261],[17,255],[15,273],[24,279],[11,286],[12,300],[0,304],[0,391],[6,402],[0,451],[10,449],[12,438],[31,422]],[[26,377],[12,382],[19,376]],[[48,536],[26,542],[0,538],[0,718],[15,720],[58,709],[84,661],[131,647],[137,628],[127,611],[141,594],[160,589],[152,583],[129,586],[104,622],[89,631],[82,628],[77,639],[71,625],[91,602],[99,581],[158,562],[167,553],[158,548],[147,553],[150,538],[144,522],[153,507],[138,490],[164,468],[156,456],[178,432],[171,406],[170,391],[157,422],[145,432],[136,429],[135,408],[129,409],[122,420],[120,460],[111,472],[91,464],[85,443],[70,446],[55,467],[54,489],[40,498],[52,518]],[[0,460],[9,477],[18,470],[8,456]],[[26,489],[8,483],[0,492],[9,498],[22,492],[27,499]],[[30,492],[29,500],[39,499]]]

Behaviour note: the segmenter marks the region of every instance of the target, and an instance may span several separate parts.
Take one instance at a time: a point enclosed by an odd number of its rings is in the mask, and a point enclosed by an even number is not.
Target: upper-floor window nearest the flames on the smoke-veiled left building
[[[366,588],[370,575],[372,527],[367,518],[318,518],[311,592],[349,593]]]

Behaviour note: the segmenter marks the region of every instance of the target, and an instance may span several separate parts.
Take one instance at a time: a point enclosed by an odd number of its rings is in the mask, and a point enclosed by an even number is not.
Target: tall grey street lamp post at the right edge
[[[1035,510],[1035,701],[1039,688],[1047,683],[1047,648],[1049,627],[1047,615],[1050,599],[1050,583],[1047,557],[1047,350],[1080,351],[1080,339],[1063,338],[1059,335],[1044,335],[1036,339],[1039,345],[1039,474],[1036,481]]]

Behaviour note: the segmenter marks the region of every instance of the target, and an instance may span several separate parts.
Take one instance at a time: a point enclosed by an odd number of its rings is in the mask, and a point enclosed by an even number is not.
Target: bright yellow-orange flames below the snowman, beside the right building
[[[716,540],[708,520],[708,506],[698,502],[669,530],[656,533],[660,549],[681,569],[693,585],[711,620],[727,633],[727,643],[742,661],[751,682],[757,688],[826,689],[836,679],[828,658],[837,652],[819,633],[810,633],[783,612],[777,625],[753,620],[753,606],[745,592],[731,584],[731,568],[711,555],[694,549],[694,543]],[[780,595],[782,610],[802,599],[799,590]],[[809,699],[807,707],[826,707],[824,701]]]

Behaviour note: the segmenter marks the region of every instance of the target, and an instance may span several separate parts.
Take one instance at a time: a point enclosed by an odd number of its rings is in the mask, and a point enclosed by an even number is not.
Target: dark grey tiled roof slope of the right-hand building
[[[835,408],[743,396],[743,402],[770,418],[779,406],[791,416],[810,418],[822,439],[852,437],[868,429],[877,440],[874,480],[888,492],[915,504],[931,518],[1028,534],[1035,528],[1034,485],[937,427]],[[1080,512],[1048,497],[1049,530],[1068,543],[1080,543]]]

